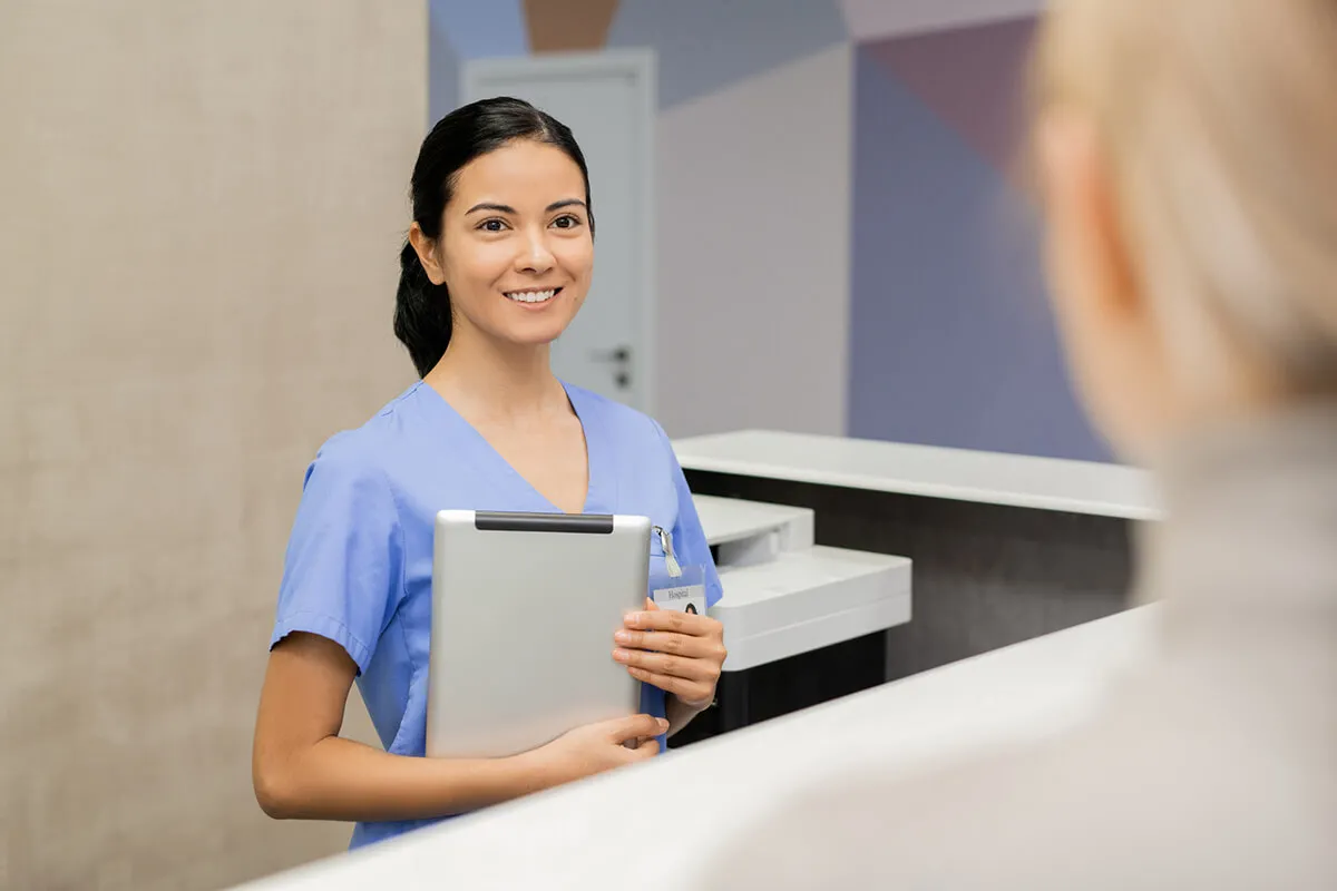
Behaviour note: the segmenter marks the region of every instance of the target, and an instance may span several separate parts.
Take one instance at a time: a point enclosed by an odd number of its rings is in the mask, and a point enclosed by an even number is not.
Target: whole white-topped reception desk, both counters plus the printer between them
[[[796,785],[1054,733],[1150,644],[1139,470],[767,431],[674,448],[725,588],[718,708],[652,763],[255,887],[690,888]]]

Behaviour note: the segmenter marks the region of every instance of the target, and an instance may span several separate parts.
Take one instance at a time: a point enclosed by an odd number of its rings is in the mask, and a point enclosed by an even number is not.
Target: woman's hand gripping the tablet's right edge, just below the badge
[[[725,664],[725,627],[709,616],[659,609],[631,613],[614,635],[612,657],[636,680],[673,693],[689,708],[706,708]]]

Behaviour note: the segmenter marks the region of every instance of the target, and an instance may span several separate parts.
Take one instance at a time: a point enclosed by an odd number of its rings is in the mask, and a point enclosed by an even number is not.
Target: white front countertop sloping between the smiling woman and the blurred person
[[[254,887],[690,887],[685,870],[701,852],[798,783],[836,768],[909,768],[1080,720],[1148,645],[1155,616],[1140,608],[993,651]]]

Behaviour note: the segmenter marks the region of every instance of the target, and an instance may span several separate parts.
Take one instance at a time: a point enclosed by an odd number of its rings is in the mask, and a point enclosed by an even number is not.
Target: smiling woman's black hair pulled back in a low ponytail
[[[509,96],[481,99],[456,108],[439,120],[422,140],[410,186],[413,220],[422,234],[432,240],[441,236],[441,215],[451,203],[455,182],[465,164],[519,139],[555,146],[576,163],[586,183],[586,212],[592,234],[590,170],[571,128],[529,103]],[[408,347],[418,377],[431,371],[445,355],[452,327],[451,293],[445,285],[432,283],[413,244],[405,239],[400,251],[400,289],[394,298],[394,337]]]

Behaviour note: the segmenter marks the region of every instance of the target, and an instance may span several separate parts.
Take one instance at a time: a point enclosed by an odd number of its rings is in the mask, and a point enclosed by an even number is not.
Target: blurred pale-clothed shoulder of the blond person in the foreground
[[[1257,757],[1230,716],[1157,687],[1044,745],[825,783],[723,840],[690,887],[1337,887],[1332,812],[1297,807],[1317,800],[1296,788],[1313,760]]]

